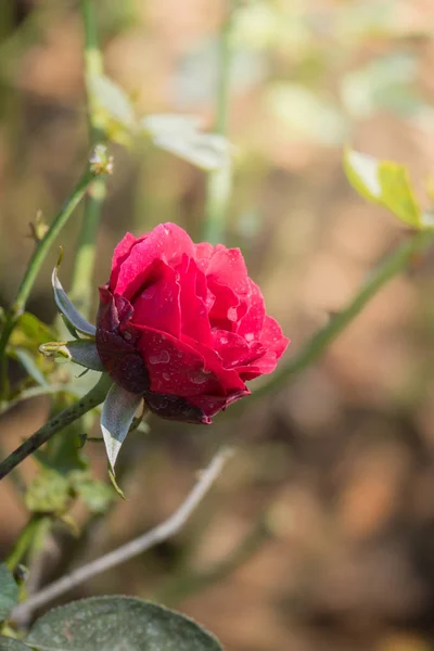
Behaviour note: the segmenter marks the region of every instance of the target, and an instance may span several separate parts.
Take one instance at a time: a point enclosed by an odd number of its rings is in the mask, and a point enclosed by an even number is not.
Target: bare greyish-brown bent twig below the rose
[[[181,506],[165,522],[158,524],[155,528],[139,536],[135,540],[122,545],[114,551],[106,553],[95,561],[91,561],[82,567],[78,567],[78,570],[71,572],[71,574],[66,574],[66,576],[63,576],[59,580],[47,586],[40,592],[20,604],[13,611],[12,618],[17,621],[23,616],[28,616],[35,609],[49,603],[85,580],[88,580],[106,570],[116,567],[120,563],[125,563],[136,556],[143,553],[154,545],[157,545],[158,542],[162,542],[162,540],[166,540],[178,533],[209,490],[231,454],[232,450],[228,448],[224,448],[216,454],[209,465],[201,473],[197,483]]]

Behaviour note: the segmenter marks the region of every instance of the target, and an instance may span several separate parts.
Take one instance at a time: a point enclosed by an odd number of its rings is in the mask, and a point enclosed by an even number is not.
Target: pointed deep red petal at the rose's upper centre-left
[[[153,264],[148,286],[133,299],[135,324],[180,336],[180,288],[177,277],[178,272],[163,260]]]

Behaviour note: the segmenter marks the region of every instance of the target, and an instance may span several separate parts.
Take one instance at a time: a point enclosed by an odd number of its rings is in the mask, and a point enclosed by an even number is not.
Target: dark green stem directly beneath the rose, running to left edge
[[[81,418],[85,413],[100,405],[111,386],[110,378],[104,373],[93,388],[78,403],[67,407],[42,425],[35,434],[27,438],[16,450],[0,463],[0,481],[7,476],[18,463],[33,455],[41,445],[47,443],[54,434]]]

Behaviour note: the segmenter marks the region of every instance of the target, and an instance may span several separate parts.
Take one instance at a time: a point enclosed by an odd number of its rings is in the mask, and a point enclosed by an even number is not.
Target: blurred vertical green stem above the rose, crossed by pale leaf
[[[230,73],[232,65],[232,17],[234,0],[227,0],[227,12],[218,42],[218,82],[215,131],[226,136],[229,124]],[[232,189],[232,169],[228,165],[208,173],[206,186],[204,240],[221,242]]]

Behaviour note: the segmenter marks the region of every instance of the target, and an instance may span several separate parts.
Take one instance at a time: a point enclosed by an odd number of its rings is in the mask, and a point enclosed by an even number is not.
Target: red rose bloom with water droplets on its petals
[[[100,288],[97,348],[111,378],[165,418],[209,423],[275,370],[289,340],[239,248],[164,224],[116,246]]]

